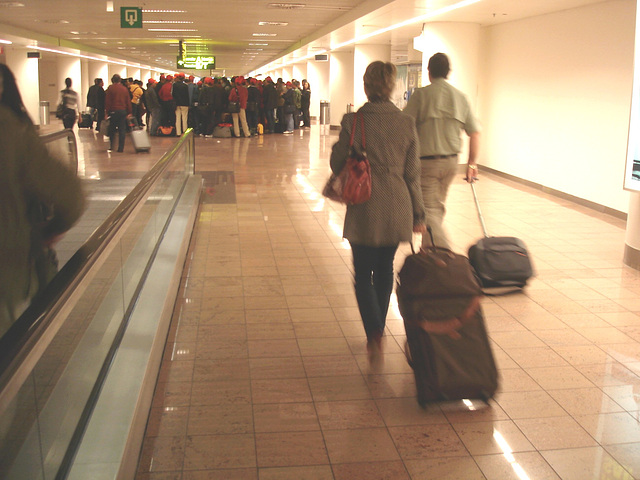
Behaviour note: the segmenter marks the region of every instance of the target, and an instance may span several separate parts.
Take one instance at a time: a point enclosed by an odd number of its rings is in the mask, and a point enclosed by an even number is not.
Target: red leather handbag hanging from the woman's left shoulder
[[[353,146],[353,139],[360,117],[362,145],[360,151]],[[349,157],[338,175],[331,174],[322,195],[336,202],[347,205],[358,205],[371,198],[371,166],[367,158],[364,136],[364,119],[360,113],[353,117],[351,140],[349,141]]]

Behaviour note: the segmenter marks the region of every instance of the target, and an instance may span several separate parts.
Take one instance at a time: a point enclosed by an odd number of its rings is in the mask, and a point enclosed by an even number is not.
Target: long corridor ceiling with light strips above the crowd
[[[189,55],[215,56],[211,73],[231,76],[340,44],[353,48],[351,39],[403,22],[361,42],[391,45],[391,60],[406,63],[407,46],[425,23],[487,26],[601,1],[0,0],[0,40],[106,55],[169,72],[176,71],[182,40]],[[112,12],[108,4],[113,4]],[[142,8],[142,27],[122,28],[121,7]]]

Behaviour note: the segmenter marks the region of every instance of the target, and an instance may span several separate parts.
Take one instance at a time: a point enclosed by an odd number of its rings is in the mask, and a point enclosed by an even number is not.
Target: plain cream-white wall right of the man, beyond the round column
[[[627,212],[635,1],[482,29],[479,163]]]

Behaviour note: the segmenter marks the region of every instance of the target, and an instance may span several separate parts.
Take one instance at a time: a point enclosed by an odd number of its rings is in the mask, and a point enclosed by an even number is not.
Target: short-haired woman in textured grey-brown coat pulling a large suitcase
[[[351,244],[355,293],[370,355],[381,351],[389,300],[393,291],[393,259],[400,242],[425,232],[420,189],[418,137],[413,118],[391,101],[396,67],[373,62],[364,74],[369,101],[357,112],[354,146],[361,149],[362,124],[371,165],[371,198],[348,205],[343,237]],[[331,170],[338,174],[349,155],[356,113],[342,118],[338,142],[331,151]]]

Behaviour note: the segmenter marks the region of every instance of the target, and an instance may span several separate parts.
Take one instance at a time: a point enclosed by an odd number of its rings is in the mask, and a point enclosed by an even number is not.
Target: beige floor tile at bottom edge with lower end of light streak
[[[538,452],[474,457],[487,480],[560,480]]]

